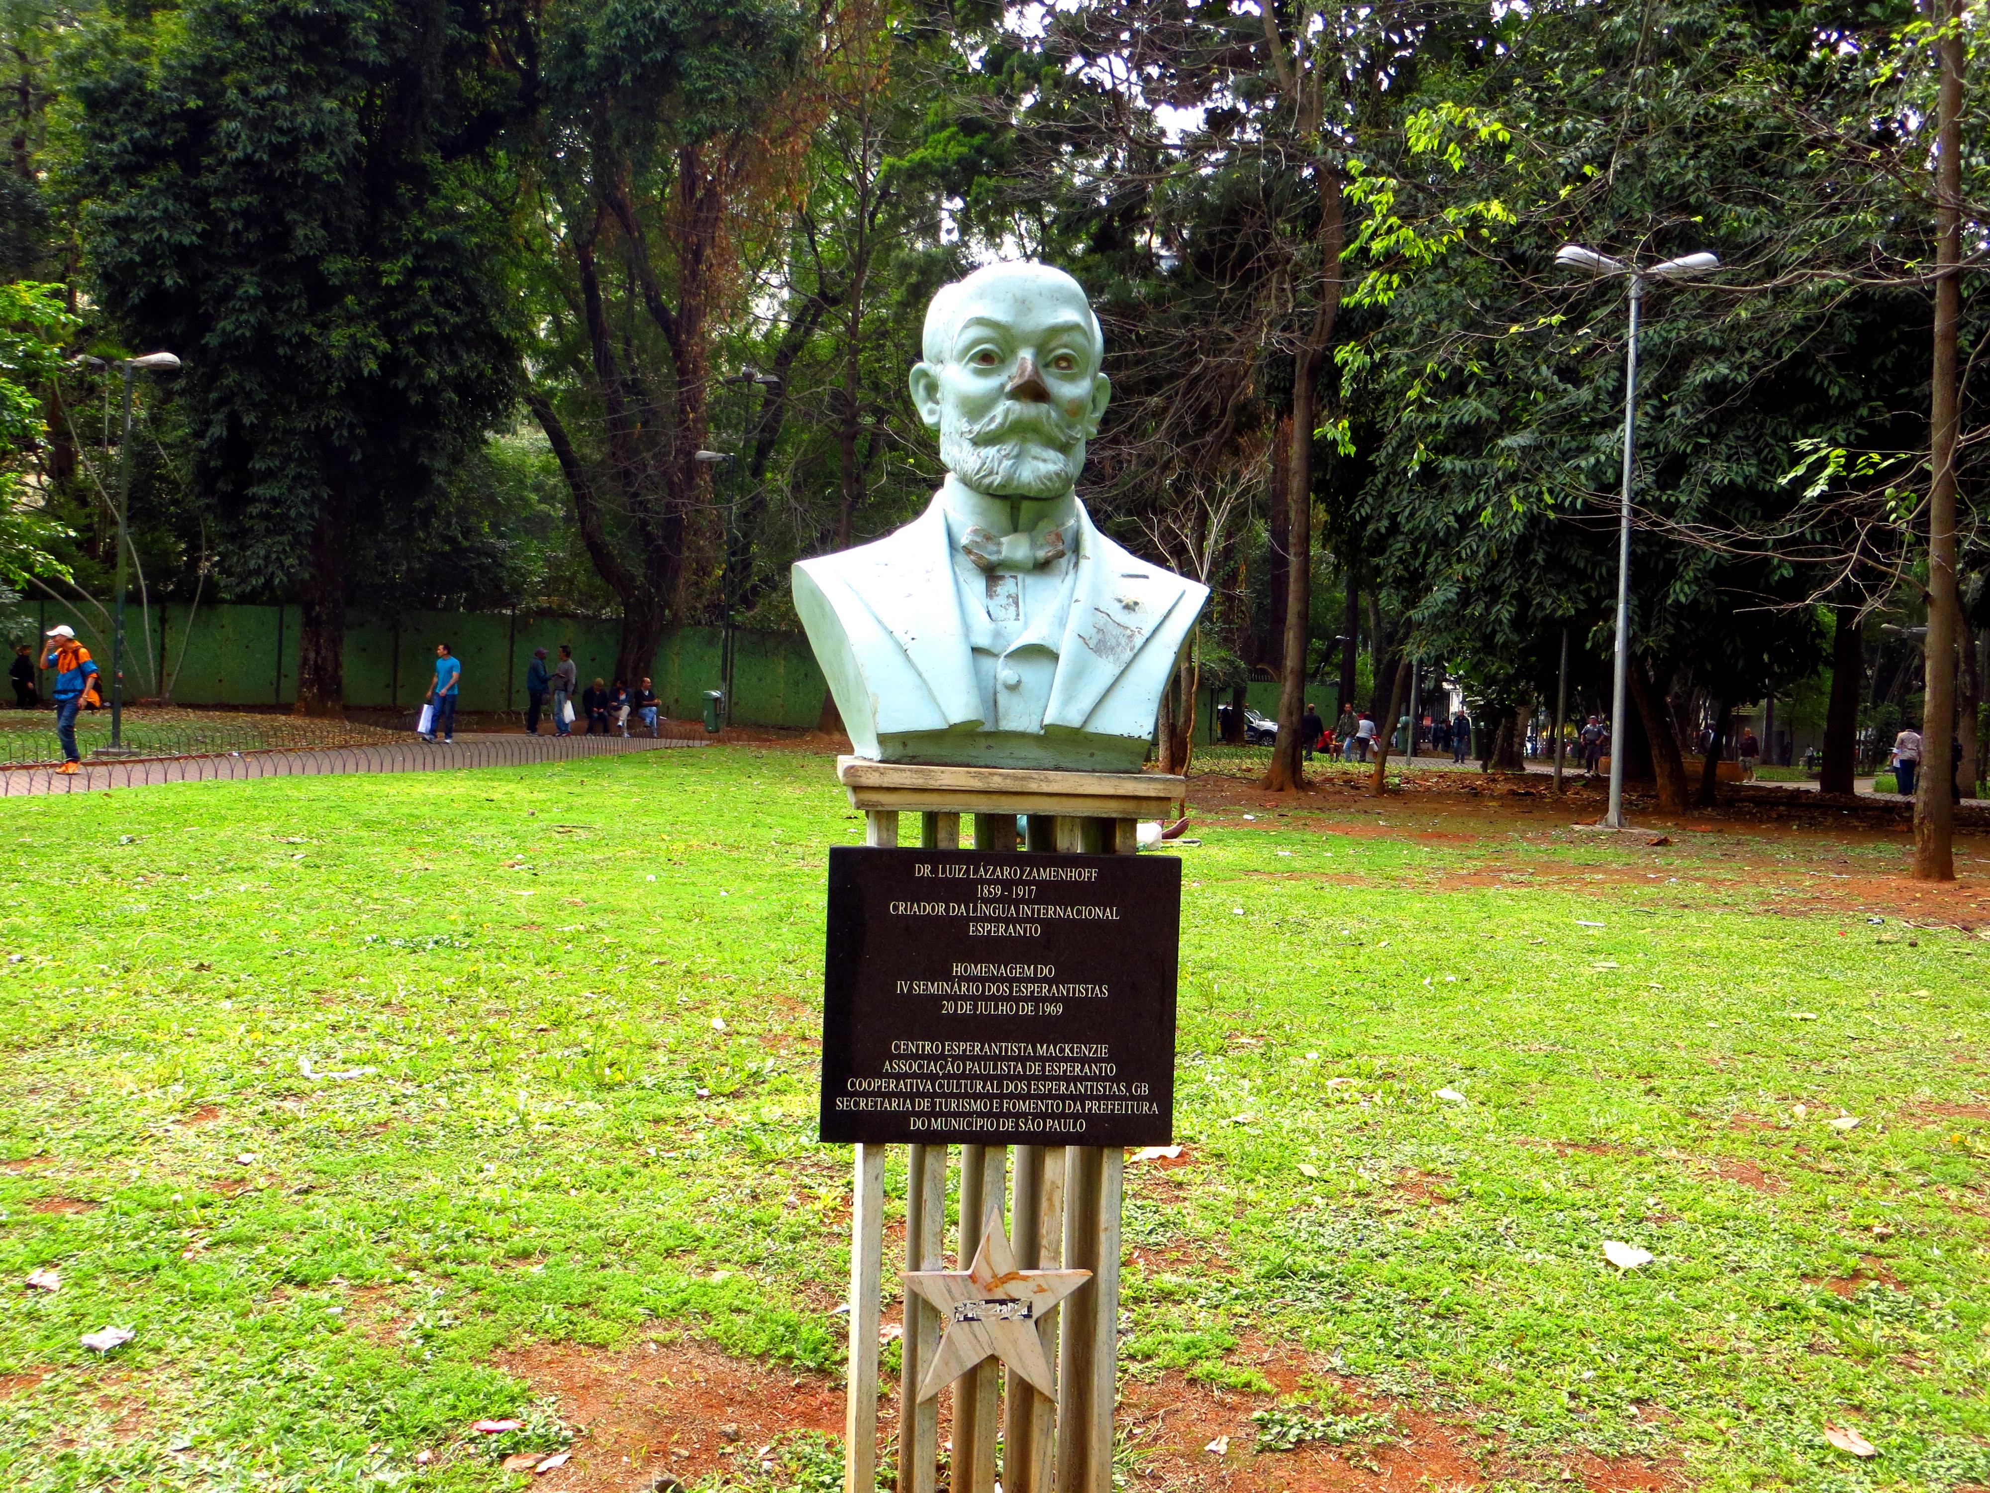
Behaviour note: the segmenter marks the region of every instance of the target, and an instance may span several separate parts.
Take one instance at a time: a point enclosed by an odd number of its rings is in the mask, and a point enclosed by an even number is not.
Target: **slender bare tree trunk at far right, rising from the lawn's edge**
[[[1928,645],[1914,784],[1914,880],[1956,880],[1956,328],[1962,322],[1962,0],[1930,6],[1942,82],[1936,96],[1934,376],[1928,402]]]

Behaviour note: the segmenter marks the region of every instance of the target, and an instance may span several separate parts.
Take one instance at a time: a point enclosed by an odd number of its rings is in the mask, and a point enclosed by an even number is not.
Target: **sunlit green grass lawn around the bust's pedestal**
[[[1252,812],[1180,850],[1194,1165],[1130,1169],[1128,1242],[1184,1264],[1130,1268],[1128,1374],[1250,1389],[1286,1344],[1471,1419],[1514,1487],[1584,1451],[1990,1483],[1990,942],[1773,912],[1699,846]],[[748,748],[10,802],[14,1485],[511,1487],[462,1439],[563,1435],[492,1364],[533,1338],[832,1370],[858,834],[826,760]]]

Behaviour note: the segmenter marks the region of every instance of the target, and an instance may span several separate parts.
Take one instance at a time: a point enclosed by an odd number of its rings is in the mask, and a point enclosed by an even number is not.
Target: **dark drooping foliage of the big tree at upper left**
[[[237,589],[342,571],[350,535],[420,502],[511,402],[484,175],[521,86],[498,60],[511,20],[185,0],[80,36],[66,165],[88,271],[135,340],[185,360],[193,480]]]

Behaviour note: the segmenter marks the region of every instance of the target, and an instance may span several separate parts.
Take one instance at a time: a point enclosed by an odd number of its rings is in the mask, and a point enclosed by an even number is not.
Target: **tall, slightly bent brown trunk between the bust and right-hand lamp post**
[[[1278,22],[1266,10],[1266,24]],[[1305,713],[1305,653],[1311,643],[1307,621],[1313,611],[1313,414],[1319,364],[1333,346],[1333,319],[1341,309],[1341,249],[1345,221],[1339,167],[1317,161],[1319,171],[1319,307],[1305,342],[1292,358],[1292,480],[1286,502],[1286,551],[1292,571],[1286,577],[1286,661],[1278,687],[1278,745],[1272,748],[1272,768],[1264,786],[1288,792],[1305,786],[1299,766],[1303,743],[1299,717]]]

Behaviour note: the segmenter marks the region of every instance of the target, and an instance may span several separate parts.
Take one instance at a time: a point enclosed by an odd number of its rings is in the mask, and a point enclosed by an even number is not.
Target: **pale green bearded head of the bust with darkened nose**
[[[1035,261],[983,265],[925,309],[911,370],[939,460],[991,498],[1063,498],[1085,466],[1112,386],[1085,289]]]

